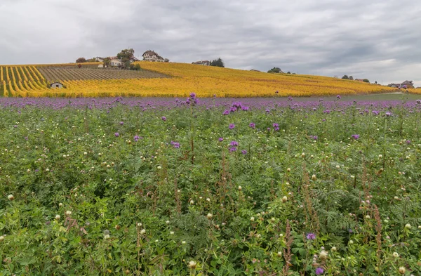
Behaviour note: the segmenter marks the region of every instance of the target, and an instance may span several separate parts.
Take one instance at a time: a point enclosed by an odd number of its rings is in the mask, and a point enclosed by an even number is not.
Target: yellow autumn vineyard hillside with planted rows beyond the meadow
[[[140,62],[143,70],[100,70],[98,63],[0,66],[0,95],[11,97],[335,96],[396,91],[359,81],[302,74],[269,74],[187,63]],[[95,67],[95,68],[93,68]],[[167,77],[170,76],[170,77]],[[63,89],[48,84],[60,81]],[[421,93],[410,89],[410,93]]]

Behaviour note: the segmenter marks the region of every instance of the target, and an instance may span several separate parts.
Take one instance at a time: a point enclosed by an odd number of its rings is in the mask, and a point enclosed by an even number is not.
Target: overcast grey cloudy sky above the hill
[[[173,62],[421,86],[418,0],[0,0],[0,64],[152,49]]]

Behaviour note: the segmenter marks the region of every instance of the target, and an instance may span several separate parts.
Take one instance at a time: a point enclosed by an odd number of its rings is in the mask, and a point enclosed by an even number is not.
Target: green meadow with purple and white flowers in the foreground
[[[420,275],[421,100],[0,98],[0,275]]]

